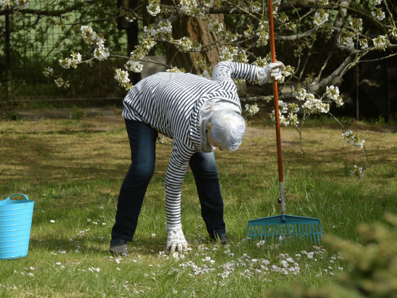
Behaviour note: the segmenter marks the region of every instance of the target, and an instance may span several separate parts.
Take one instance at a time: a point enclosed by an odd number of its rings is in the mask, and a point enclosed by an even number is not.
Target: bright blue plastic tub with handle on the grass
[[[10,200],[21,195],[25,200]],[[26,257],[29,248],[34,201],[14,194],[0,201],[0,260]]]

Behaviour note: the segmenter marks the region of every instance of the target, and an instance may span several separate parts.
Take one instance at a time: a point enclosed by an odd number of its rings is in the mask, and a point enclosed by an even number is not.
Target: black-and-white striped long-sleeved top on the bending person
[[[174,140],[165,174],[168,224],[181,223],[181,186],[192,155],[201,148],[199,111],[222,97],[240,104],[233,78],[256,80],[257,67],[220,62],[212,80],[196,74],[157,73],[139,81],[127,94],[123,118],[142,121]]]

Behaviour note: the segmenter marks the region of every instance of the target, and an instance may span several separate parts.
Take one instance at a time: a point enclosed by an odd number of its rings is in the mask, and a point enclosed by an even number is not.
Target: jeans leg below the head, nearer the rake
[[[210,236],[225,233],[223,199],[220,193],[218,171],[213,152],[196,152],[189,162],[195,177],[201,216]]]

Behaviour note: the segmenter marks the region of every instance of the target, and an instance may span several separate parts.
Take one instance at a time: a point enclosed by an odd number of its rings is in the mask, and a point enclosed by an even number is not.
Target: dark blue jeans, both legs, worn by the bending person
[[[154,171],[158,132],[140,121],[126,119],[125,122],[130,139],[131,165],[120,189],[112,239],[132,241],[143,198]],[[225,233],[223,199],[214,153],[196,152],[189,165],[196,181],[201,217],[209,236]]]

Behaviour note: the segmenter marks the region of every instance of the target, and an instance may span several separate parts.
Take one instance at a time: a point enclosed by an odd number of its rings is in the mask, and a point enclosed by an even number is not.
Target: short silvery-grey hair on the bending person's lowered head
[[[241,115],[229,110],[215,111],[209,123],[210,138],[219,147],[232,151],[239,148],[245,133],[245,121]]]

